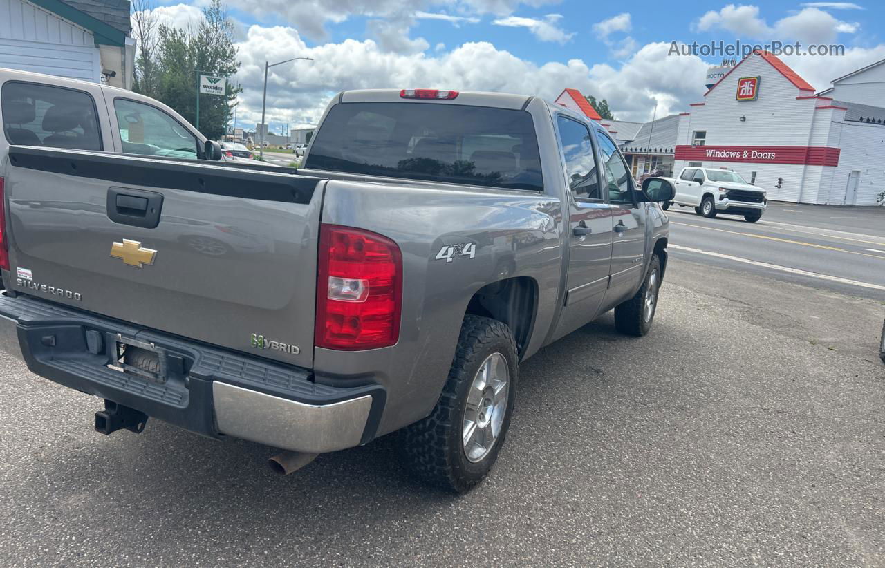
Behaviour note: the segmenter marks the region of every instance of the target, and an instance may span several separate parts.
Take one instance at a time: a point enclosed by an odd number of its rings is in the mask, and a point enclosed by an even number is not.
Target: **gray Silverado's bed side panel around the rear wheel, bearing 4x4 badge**
[[[319,381],[371,377],[388,390],[378,434],[427,416],[451,366],[473,294],[502,278],[535,280],[534,352],[550,327],[560,280],[557,197],[487,188],[415,188],[407,183],[331,180],[322,221],[393,239],[403,253],[399,342],[384,349],[314,349]],[[436,259],[443,247],[473,243],[475,257]]]

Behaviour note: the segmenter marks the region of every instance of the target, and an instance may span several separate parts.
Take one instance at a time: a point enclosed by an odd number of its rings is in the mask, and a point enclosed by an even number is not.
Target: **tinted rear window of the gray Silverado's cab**
[[[458,104],[336,104],[304,167],[543,190],[531,115]]]

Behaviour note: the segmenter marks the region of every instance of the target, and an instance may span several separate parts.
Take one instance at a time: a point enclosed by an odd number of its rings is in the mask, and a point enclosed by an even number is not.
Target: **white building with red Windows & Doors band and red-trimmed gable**
[[[885,83],[879,93],[882,104]],[[773,200],[873,205],[885,192],[885,108],[817,96],[780,59],[756,52],[680,115],[674,158],[675,173],[730,168]]]

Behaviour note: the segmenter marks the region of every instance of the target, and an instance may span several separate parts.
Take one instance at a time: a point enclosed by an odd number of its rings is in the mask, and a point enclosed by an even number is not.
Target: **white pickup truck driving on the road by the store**
[[[739,173],[712,167],[687,167],[675,179],[673,203],[694,207],[698,215],[743,215],[750,223],[766,211],[766,191],[747,183]]]

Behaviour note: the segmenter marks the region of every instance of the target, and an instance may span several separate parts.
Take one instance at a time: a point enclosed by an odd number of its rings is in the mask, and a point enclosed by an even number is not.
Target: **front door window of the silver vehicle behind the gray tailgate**
[[[196,136],[164,111],[124,98],[114,99],[113,107],[124,154],[196,159]]]

